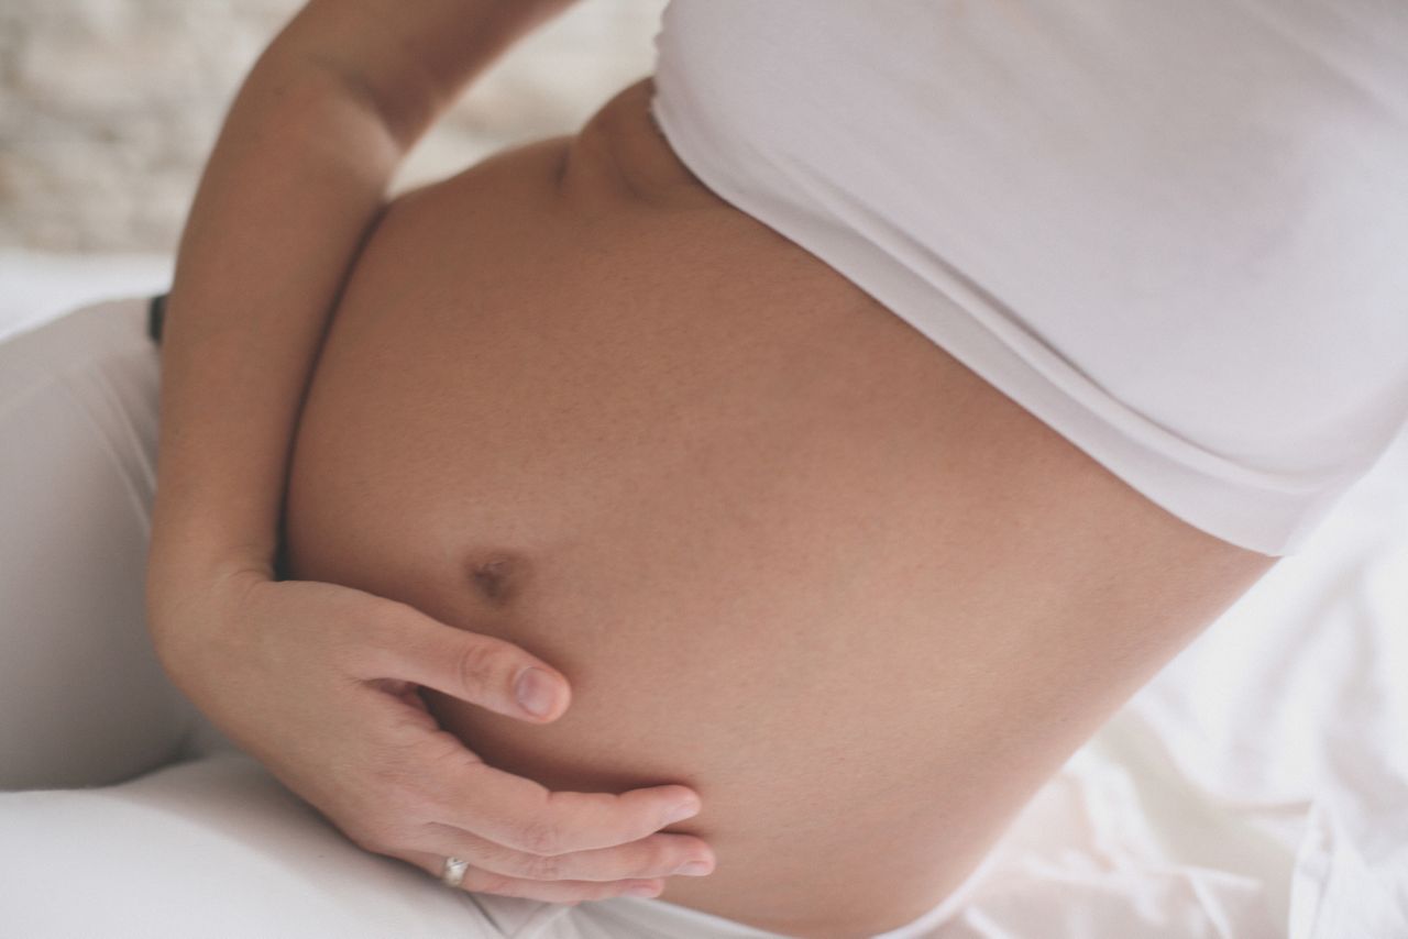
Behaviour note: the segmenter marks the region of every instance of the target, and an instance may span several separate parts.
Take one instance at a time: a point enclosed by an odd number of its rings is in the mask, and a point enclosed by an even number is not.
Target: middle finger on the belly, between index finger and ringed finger
[[[693,835],[659,833],[615,847],[529,855],[441,822],[431,822],[421,832],[410,847],[442,857],[462,857],[480,870],[527,880],[611,881],[673,874],[701,877],[714,870],[714,853]],[[691,869],[691,864],[697,867]]]

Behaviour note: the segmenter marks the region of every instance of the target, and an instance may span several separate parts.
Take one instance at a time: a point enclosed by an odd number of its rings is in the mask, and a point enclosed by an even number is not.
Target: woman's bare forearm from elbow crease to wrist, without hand
[[[398,158],[314,66],[256,68],[241,89],[168,301],[153,566],[272,565],[303,390]]]

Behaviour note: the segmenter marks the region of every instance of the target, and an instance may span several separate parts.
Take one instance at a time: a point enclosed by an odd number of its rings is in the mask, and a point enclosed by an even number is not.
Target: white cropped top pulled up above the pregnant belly
[[[1408,1],[672,0],[718,196],[1287,555],[1408,425]]]

